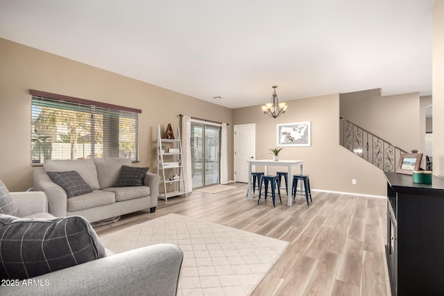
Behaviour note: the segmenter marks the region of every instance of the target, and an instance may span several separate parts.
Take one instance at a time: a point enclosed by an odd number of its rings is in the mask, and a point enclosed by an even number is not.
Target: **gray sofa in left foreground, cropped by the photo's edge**
[[[43,192],[11,193],[22,218],[54,218]],[[151,245],[49,272],[19,286],[0,286],[0,295],[176,295],[183,252]],[[6,283],[6,282],[5,282]],[[25,283],[25,284],[24,284]]]

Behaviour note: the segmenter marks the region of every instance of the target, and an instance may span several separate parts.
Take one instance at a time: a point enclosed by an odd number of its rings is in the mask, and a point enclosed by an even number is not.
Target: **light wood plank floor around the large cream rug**
[[[199,218],[290,243],[253,295],[391,295],[386,200],[313,191],[310,206],[298,197],[288,207],[282,194],[273,208],[271,197],[257,204],[257,191],[247,200],[246,184],[234,186],[159,200],[153,214],[129,214],[94,229],[101,236],[171,213]]]

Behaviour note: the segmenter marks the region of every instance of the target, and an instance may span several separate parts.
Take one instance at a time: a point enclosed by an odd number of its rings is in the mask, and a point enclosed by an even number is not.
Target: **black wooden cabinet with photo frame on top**
[[[388,273],[393,295],[444,295],[444,178],[387,177]]]

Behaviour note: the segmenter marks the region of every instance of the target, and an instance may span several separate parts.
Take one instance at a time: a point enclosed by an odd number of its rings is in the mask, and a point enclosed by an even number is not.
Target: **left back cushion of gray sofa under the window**
[[[99,189],[94,159],[48,159],[43,167],[46,172],[76,171],[92,189]]]

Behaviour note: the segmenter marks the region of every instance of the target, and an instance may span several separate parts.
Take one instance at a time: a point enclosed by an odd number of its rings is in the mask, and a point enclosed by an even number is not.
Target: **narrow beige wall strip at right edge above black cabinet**
[[[433,6],[433,171],[444,176],[444,1]]]

